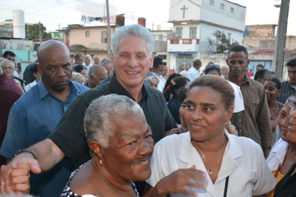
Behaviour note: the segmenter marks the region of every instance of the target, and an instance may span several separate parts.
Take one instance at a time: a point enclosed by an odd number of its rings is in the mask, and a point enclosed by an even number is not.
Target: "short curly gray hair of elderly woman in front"
[[[128,114],[140,112],[142,108],[127,96],[109,94],[93,100],[84,116],[84,131],[87,142],[96,141],[102,148],[109,147],[109,138],[114,135],[116,124]]]

